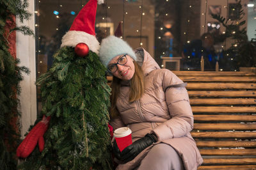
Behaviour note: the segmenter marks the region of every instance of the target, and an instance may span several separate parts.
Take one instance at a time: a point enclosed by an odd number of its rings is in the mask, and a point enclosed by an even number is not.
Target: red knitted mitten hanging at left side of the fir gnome
[[[26,158],[35,149],[36,143],[38,143],[39,150],[44,150],[44,133],[46,132],[51,116],[44,117],[33,127],[25,139],[19,145],[16,151],[17,157]]]

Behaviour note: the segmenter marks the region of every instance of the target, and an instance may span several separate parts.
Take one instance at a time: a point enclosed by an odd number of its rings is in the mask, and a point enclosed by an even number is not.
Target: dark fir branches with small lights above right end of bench
[[[241,4],[241,0],[237,1],[232,9],[237,11],[237,19],[229,21],[220,15],[212,15],[213,19],[218,20],[225,27],[224,40],[230,38],[234,40],[232,45],[223,51],[224,65],[230,63],[236,70],[239,66],[255,67],[256,66],[256,40],[248,40],[246,34],[246,27],[241,28],[246,24],[246,20],[243,20],[244,10]],[[231,61],[230,58],[233,58]]]

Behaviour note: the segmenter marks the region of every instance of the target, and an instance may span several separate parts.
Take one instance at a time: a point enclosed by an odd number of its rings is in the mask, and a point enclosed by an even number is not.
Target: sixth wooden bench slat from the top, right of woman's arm
[[[192,106],[192,111],[195,112],[256,112],[256,107],[226,107],[226,106]]]

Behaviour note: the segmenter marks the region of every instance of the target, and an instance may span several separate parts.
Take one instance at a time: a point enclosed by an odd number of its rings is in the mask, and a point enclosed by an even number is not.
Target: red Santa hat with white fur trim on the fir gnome
[[[90,0],[77,14],[69,31],[61,40],[61,47],[76,47],[78,43],[86,43],[89,50],[98,54],[100,45],[95,36],[97,3],[102,4],[104,0]]]

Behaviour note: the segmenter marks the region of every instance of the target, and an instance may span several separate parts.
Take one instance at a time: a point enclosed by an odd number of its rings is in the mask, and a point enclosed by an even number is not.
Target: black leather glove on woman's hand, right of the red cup
[[[134,159],[141,151],[157,142],[157,137],[155,134],[147,134],[138,141],[135,141],[131,145],[127,146],[122,152],[120,160],[124,163]]]

